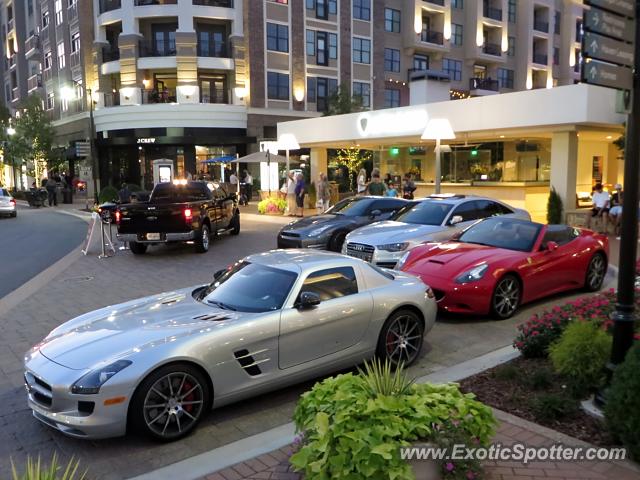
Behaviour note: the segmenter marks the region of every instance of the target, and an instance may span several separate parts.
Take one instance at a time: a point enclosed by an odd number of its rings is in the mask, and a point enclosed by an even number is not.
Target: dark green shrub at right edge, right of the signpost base
[[[640,461],[640,343],[616,367],[604,409],[607,425],[631,457]]]

